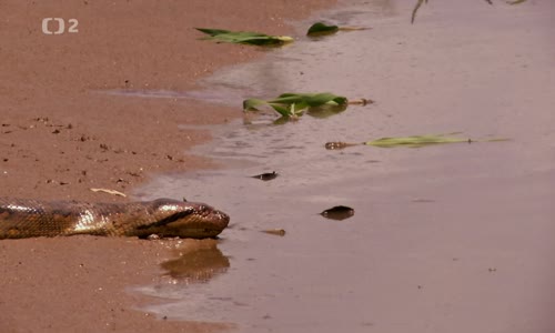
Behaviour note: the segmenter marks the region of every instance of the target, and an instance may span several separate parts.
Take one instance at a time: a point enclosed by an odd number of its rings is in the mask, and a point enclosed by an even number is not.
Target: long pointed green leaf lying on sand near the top
[[[253,46],[281,46],[292,42],[293,38],[289,36],[269,36],[260,32],[251,31],[230,31],[222,29],[194,28],[201,32],[209,34],[206,40],[216,42],[253,44]]]

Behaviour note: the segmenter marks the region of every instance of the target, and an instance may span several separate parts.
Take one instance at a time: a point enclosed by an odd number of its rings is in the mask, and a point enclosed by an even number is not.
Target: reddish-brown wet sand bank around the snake
[[[127,192],[157,172],[213,167],[184,154],[210,133],[178,124],[223,123],[240,109],[95,91],[190,89],[221,65],[263,54],[200,41],[192,27],[286,34],[284,18],[333,2],[2,1],[0,195],[121,201],[89,189]],[[78,32],[42,33],[42,19],[50,17],[77,19]],[[170,256],[161,242],[79,236],[1,241],[0,248],[1,332],[229,327],[133,310],[145,300],[125,287],[160,279],[158,264]]]

